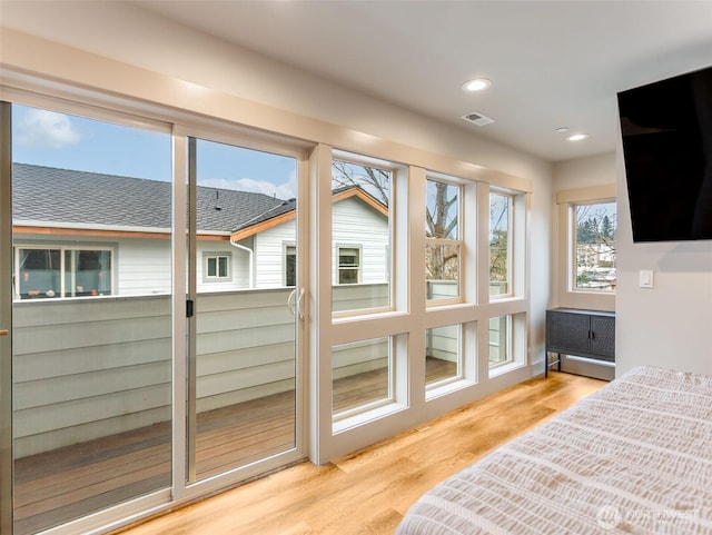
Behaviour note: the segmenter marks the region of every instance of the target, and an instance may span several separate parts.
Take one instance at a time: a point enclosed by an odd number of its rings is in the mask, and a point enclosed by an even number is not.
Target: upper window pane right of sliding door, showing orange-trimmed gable
[[[392,171],[334,160],[332,192],[332,309],[389,307]]]

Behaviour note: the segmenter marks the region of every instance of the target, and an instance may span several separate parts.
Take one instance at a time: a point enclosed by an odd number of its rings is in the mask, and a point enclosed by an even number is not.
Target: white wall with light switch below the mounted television
[[[633,244],[619,143],[616,376],[640,365],[712,374],[712,240]],[[639,287],[652,269],[654,287]]]

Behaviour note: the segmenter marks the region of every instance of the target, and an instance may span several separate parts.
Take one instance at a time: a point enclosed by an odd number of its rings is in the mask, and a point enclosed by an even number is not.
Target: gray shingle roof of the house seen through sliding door
[[[264,194],[198,186],[197,195],[198,231],[233,231],[295,208]],[[12,165],[14,220],[169,229],[170,200],[170,182]]]

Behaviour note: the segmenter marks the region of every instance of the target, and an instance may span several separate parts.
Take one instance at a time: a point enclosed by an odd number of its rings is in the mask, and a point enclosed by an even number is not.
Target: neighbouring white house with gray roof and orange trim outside
[[[26,164],[12,172],[16,298],[170,291],[170,182]],[[198,291],[294,286],[295,208],[198,186]],[[337,190],[333,228],[334,284],[387,280],[387,207],[362,188]]]

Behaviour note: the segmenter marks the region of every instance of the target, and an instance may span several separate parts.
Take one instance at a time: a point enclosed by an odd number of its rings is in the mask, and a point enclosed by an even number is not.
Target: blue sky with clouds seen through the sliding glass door
[[[12,159],[21,164],[170,180],[170,136],[67,113],[13,106]],[[293,158],[208,141],[198,142],[198,182],[296,196]]]

